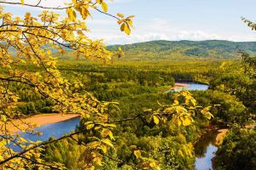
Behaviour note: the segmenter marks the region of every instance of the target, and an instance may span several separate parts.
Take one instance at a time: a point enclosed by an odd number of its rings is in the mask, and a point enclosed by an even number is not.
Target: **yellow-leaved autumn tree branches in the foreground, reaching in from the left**
[[[101,40],[93,41],[86,36],[89,30],[83,21],[90,16],[89,9],[108,14],[107,3],[103,0],[79,0],[67,3],[63,8],[50,8],[41,6],[41,1],[37,4],[28,4],[23,0],[20,3],[0,1],[0,4],[5,3],[50,11],[44,10],[38,16],[26,13],[21,19],[4,12],[2,6],[0,8],[0,167],[3,169],[64,168],[58,163],[53,165],[45,163],[40,157],[42,146],[61,139],[74,139],[74,135],[91,130],[99,135],[91,136],[90,141],[84,144],[86,146],[84,169],[94,169],[96,164],[102,165],[104,154],[114,148],[115,125],[113,123],[128,120],[111,120],[108,115],[108,105],[115,105],[114,103],[101,102],[88,92],[72,90],[79,88],[82,84],[68,82],[61,76],[54,53],[58,51],[64,54],[67,51],[73,51],[77,56],[82,55],[87,59],[111,59],[113,53],[106,49]],[[62,18],[53,10],[66,10],[68,17]],[[79,20],[78,15],[83,20]],[[128,35],[131,33],[133,17],[125,18],[123,14],[113,16],[118,20],[120,30]],[[121,53],[119,49],[118,54]],[[92,122],[85,122],[86,128],[82,131],[71,133],[60,139],[47,142],[23,139],[8,128],[9,124],[14,123],[15,118],[23,116],[17,110],[20,105],[20,96],[10,88],[13,84],[25,85],[26,88],[32,89],[32,93],[50,99],[55,105],[55,111],[62,114],[78,113],[82,119],[90,118]],[[182,92],[177,95],[174,104],[164,106],[158,111],[145,111],[142,117],[148,121],[153,120],[155,124],[172,121],[177,125],[189,126],[194,121],[193,116],[200,110],[201,108],[196,107],[195,99],[188,92]],[[201,110],[201,113],[211,117],[208,109]],[[137,117],[130,120],[135,119]],[[19,127],[19,125],[16,126]],[[32,126],[29,127],[20,127],[20,130],[26,133],[37,133]],[[13,150],[13,144],[17,145],[19,150]],[[137,167],[159,168],[158,162],[139,153],[142,151],[134,150],[134,155],[139,161]]]

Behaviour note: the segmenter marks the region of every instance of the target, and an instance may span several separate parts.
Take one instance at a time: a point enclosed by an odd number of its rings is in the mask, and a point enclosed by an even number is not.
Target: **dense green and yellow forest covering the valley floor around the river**
[[[251,58],[250,58],[251,59]],[[239,69],[237,69],[239,68]],[[172,122],[154,126],[153,122],[145,122],[139,118],[131,122],[121,122],[114,130],[117,148],[103,156],[106,164],[97,169],[133,169],[137,159],[133,155],[133,147],[147,150],[147,156],[160,162],[161,169],[193,169],[195,163],[194,146],[204,133],[206,127],[230,127],[236,129],[245,127],[255,118],[255,77],[254,67],[243,59],[232,61],[195,61],[185,62],[115,62],[102,65],[86,61],[60,61],[59,69],[70,82],[79,88],[73,88],[79,93],[90,92],[97,99],[119,103],[119,108],[110,105],[110,113],[114,119],[122,120],[137,117],[143,111],[157,109],[160,105],[171,104],[175,94],[166,91],[175,82],[201,82],[209,84],[207,91],[192,91],[199,105],[212,106],[214,118],[208,121],[203,116],[195,117],[195,124],[189,127],[177,127]],[[234,74],[236,72],[236,74]],[[15,87],[14,87],[15,88]],[[50,101],[44,100],[38,93],[29,88],[17,88],[20,99],[19,110],[24,114],[53,113],[54,107]],[[254,93],[254,94],[253,94]],[[27,95],[30,94],[30,95]],[[84,123],[90,121],[84,119]],[[248,130],[247,130],[248,131]],[[242,139],[249,140],[246,130],[241,130]],[[251,130],[253,133],[254,131]],[[230,130],[229,136],[233,130]],[[77,136],[80,144],[88,142],[88,137],[96,133],[84,133]],[[216,168],[222,168],[221,156],[226,156],[226,143],[236,143],[231,136],[224,139],[223,148],[218,151]],[[242,147],[239,146],[239,147]],[[247,150],[241,148],[241,150]],[[83,145],[72,139],[50,144],[45,148],[45,161],[61,162],[68,169],[83,167]],[[235,157],[241,156],[237,153]],[[73,159],[69,159],[73,156]],[[233,157],[226,165],[233,162]],[[237,158],[238,159],[238,158]],[[253,164],[253,156],[241,162]],[[77,163],[77,162],[80,163]],[[255,162],[254,162],[255,163]],[[233,168],[236,169],[236,168]],[[247,168],[249,169],[249,168]]]

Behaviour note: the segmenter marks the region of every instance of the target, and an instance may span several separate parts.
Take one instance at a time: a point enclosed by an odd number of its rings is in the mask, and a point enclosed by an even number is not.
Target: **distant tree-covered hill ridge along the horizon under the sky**
[[[209,41],[152,41],[127,45],[108,46],[110,50],[121,47],[123,60],[163,60],[163,59],[236,59],[239,50],[256,55],[256,42]]]

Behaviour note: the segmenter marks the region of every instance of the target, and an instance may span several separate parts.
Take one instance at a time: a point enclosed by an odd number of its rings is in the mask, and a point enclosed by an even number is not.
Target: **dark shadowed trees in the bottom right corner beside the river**
[[[253,169],[256,166],[255,129],[233,128],[216,157],[216,169]]]

